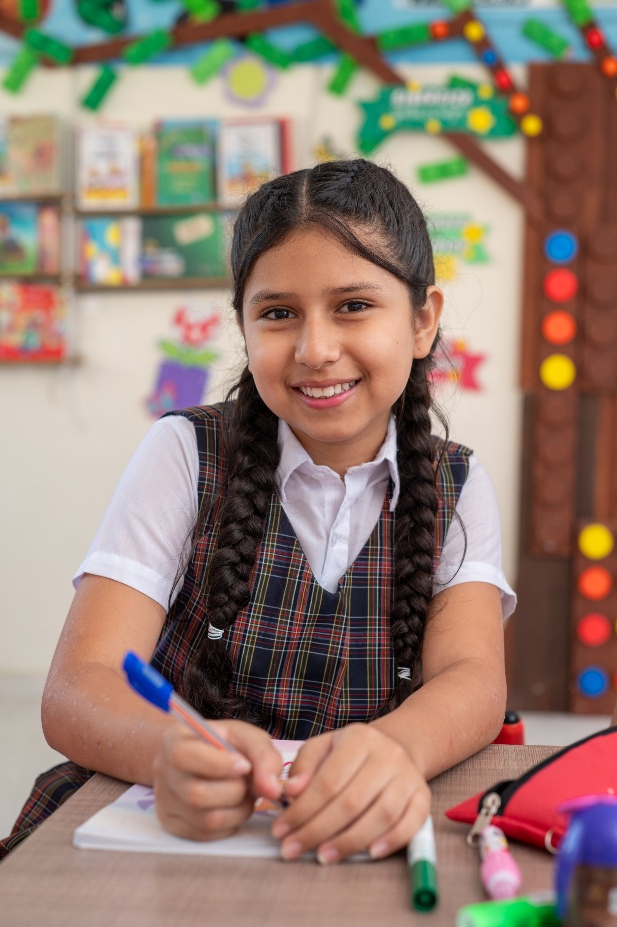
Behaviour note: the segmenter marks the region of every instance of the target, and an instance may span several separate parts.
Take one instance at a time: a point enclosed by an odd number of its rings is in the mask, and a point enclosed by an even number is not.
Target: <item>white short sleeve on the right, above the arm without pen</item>
[[[464,526],[464,531],[463,527]],[[465,536],[467,547],[465,549]],[[491,583],[501,593],[504,620],[516,608],[516,595],[501,565],[501,519],[493,484],[473,455],[433,582],[436,595],[460,583]]]

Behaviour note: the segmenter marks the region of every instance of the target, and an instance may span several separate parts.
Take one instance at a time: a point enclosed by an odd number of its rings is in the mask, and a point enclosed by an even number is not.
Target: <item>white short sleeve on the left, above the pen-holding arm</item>
[[[179,566],[190,550],[198,477],[192,423],[183,416],[160,419],[122,474],[73,577],[75,588],[84,573],[94,573],[132,586],[167,610]],[[182,582],[174,589],[174,599]]]

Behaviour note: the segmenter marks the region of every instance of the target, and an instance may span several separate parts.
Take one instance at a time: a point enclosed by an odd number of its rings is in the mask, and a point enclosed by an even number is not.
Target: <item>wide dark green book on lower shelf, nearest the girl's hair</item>
[[[226,263],[218,213],[145,216],[143,277],[223,277]]]

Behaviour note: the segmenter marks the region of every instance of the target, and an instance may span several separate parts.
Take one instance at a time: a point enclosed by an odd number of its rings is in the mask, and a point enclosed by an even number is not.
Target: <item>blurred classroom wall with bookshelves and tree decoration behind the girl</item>
[[[58,757],[71,577],[152,422],[242,363],[228,244],[362,154],[427,214],[436,389],[487,468],[530,743],[616,698],[617,4],[0,0],[0,831]]]

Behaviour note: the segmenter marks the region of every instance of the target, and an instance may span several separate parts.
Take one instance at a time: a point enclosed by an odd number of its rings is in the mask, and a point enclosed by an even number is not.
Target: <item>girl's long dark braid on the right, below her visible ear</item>
[[[394,409],[401,493],[394,530],[390,633],[397,668],[399,671],[408,668],[412,678],[398,679],[387,706],[390,711],[412,692],[413,672],[422,653],[426,616],[433,597],[438,498],[435,445],[431,438],[432,397],[427,376],[431,365],[430,355],[414,361],[405,392]]]

